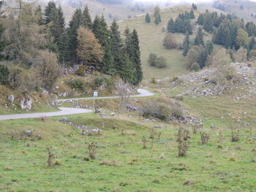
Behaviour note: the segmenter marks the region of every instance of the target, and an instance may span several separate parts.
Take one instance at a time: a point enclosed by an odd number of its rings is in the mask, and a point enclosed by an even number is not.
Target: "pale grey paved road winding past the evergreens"
[[[143,96],[154,96],[154,93],[147,91],[145,89],[138,89],[138,95],[134,95],[131,97],[143,97]],[[116,99],[118,96],[105,96],[105,97],[97,97],[97,99]],[[58,101],[71,101],[71,100],[86,100],[86,99],[95,99],[93,97],[89,98],[77,98],[77,99],[59,99]],[[40,117],[53,117],[53,116],[61,116],[61,115],[74,115],[81,113],[89,113],[92,110],[84,110],[78,108],[66,108],[59,107],[58,112],[37,112],[37,113],[23,113],[23,114],[14,114],[14,115],[0,115],[0,120],[11,120],[11,119],[24,119],[24,118],[40,118]]]

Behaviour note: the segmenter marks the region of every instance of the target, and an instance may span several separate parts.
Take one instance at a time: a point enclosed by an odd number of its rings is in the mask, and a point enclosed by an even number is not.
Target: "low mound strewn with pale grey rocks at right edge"
[[[184,89],[181,95],[189,96],[217,96],[227,93],[234,93],[234,101],[246,99],[256,94],[256,69],[249,64],[233,63],[236,73],[239,75],[239,81],[232,80],[218,85],[211,80],[215,77],[217,69],[206,68],[200,72],[191,72],[171,81],[172,88]]]

